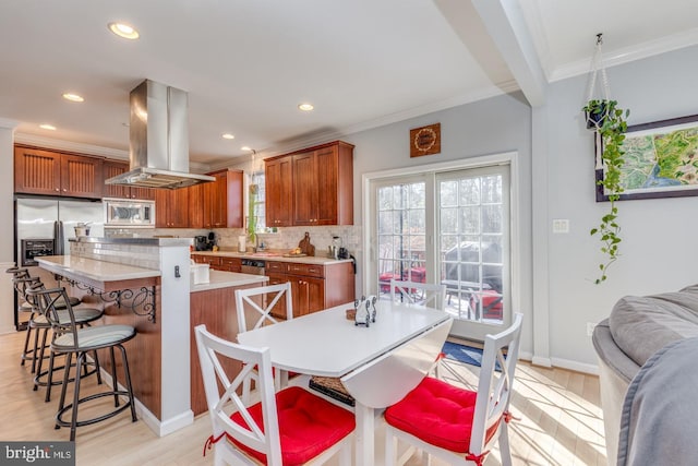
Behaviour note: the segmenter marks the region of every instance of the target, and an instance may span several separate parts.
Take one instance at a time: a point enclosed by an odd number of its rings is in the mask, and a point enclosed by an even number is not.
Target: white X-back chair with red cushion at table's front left
[[[215,449],[216,465],[315,465],[338,455],[340,466],[349,466],[356,428],[351,411],[300,386],[275,392],[268,348],[225,340],[205,325],[194,333],[213,428],[204,454]],[[242,362],[232,381],[220,358]],[[246,406],[238,390],[253,368],[261,401]]]

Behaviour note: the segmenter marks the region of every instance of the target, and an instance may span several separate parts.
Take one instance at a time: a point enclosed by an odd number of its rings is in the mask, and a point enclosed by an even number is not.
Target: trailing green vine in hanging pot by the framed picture
[[[617,108],[616,100],[589,100],[582,110],[587,115],[587,127],[595,130],[603,141],[601,160],[604,175],[597,183],[603,187],[609,198],[609,212],[601,217],[598,227],[592,228],[591,236],[601,238],[601,252],[606,259],[599,264],[600,276],[594,280],[597,285],[605,282],[609,267],[618,259],[621,243],[621,226],[618,225],[618,207],[615,202],[621,199],[621,168],[625,163],[623,141],[627,130],[626,118],[630,110]]]

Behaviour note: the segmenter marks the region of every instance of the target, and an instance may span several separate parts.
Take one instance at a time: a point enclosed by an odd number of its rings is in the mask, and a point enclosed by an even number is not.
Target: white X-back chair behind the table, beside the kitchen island
[[[238,313],[238,331],[249,332],[263,325],[278,322],[274,311],[284,314],[286,320],[293,319],[293,299],[291,297],[291,284],[286,282],[277,285],[260,286],[236,290],[236,310]],[[242,385],[243,399],[250,399],[252,381],[256,379],[256,372]],[[288,383],[287,371],[275,371],[274,383],[276,390],[280,390]]]

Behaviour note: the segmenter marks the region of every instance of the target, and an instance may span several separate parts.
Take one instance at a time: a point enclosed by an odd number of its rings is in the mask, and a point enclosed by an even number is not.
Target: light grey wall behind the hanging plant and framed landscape
[[[629,124],[698,113],[698,47],[607,70],[612,98],[630,108]],[[594,285],[599,241],[589,235],[607,207],[594,201],[593,139],[580,121],[587,76],[554,83],[549,127],[549,225],[568,218],[569,235],[550,235],[550,325],[553,363],[595,365],[586,322],[606,318],[625,295],[674,291],[698,283],[698,198],[624,201],[621,259]],[[535,176],[533,182],[537,182]]]

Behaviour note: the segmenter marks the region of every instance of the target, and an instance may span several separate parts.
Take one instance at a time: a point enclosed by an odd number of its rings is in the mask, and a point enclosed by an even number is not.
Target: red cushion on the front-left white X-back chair
[[[284,466],[308,463],[353,431],[356,422],[351,411],[299,387],[291,386],[276,394],[276,408],[281,438]],[[262,422],[262,404],[249,408],[257,426]],[[239,413],[230,416],[234,422],[248,427]],[[266,464],[266,455],[244,446],[228,437],[240,450]]]

